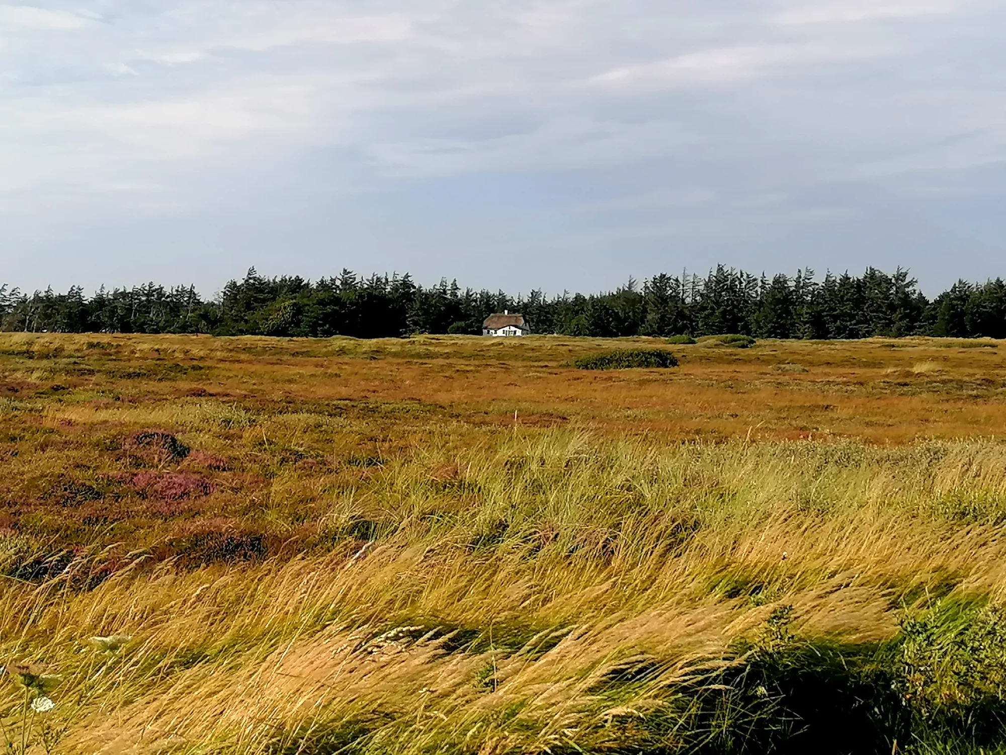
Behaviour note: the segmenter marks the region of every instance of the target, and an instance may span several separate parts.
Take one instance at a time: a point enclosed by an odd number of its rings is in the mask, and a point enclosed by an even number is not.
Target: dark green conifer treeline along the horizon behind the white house
[[[0,287],[0,329],[29,332],[351,335],[481,333],[483,319],[520,312],[533,332],[624,336],[742,333],[770,338],[873,335],[1006,337],[1006,283],[959,281],[935,299],[906,271],[862,276],[813,271],[756,277],[722,266],[701,277],[657,275],[600,294],[546,296],[532,291],[462,289],[446,280],[425,287],[407,276],[359,278],[343,271],[311,282],[265,278],[253,268],[212,300],[192,286],[153,283],[85,296],[51,289],[31,295]]]

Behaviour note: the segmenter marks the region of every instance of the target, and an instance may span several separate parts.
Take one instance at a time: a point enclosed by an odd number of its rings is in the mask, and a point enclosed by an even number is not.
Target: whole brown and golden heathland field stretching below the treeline
[[[1006,342],[0,334],[7,751],[1006,753],[1004,435]]]

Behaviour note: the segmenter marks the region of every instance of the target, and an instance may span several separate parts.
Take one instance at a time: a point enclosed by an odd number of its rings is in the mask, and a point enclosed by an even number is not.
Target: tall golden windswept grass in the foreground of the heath
[[[1006,450],[990,442],[660,447],[552,430],[438,478],[441,451],[333,500],[332,532],[365,519],[372,540],[333,536],[326,555],[138,559],[91,590],[74,588],[88,559],[7,580],[4,655],[66,674],[50,715],[71,725],[67,751],[601,752],[655,746],[637,724],[657,714],[680,722],[661,746],[684,749],[710,733],[681,689],[742,662],[736,640],[779,606],[801,636],[868,643],[938,598],[995,601],[1006,584]],[[112,633],[135,639],[105,666],[83,648]]]

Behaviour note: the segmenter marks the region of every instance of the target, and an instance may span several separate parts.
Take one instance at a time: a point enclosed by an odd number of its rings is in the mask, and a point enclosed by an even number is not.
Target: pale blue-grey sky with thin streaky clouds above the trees
[[[0,0],[0,283],[1006,276],[1002,0]]]

